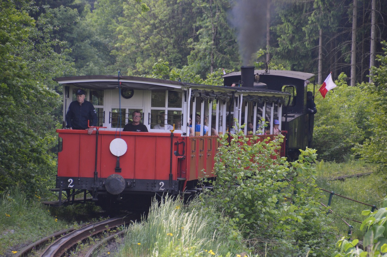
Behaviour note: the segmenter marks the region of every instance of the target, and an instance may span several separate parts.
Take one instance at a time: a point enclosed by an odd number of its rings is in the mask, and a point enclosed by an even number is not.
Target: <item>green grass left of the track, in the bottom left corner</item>
[[[27,200],[19,189],[0,195],[0,256],[10,256],[23,245],[66,228],[67,225],[51,216],[37,197]]]

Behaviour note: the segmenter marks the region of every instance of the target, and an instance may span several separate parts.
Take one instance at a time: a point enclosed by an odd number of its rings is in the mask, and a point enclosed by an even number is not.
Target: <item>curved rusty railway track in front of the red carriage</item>
[[[82,226],[79,229],[68,229],[59,231],[53,235],[42,238],[34,243],[31,243],[27,247],[20,250],[15,257],[22,256],[31,256],[33,251],[41,248],[43,245],[46,245],[50,240],[53,242],[43,250],[39,250],[40,257],[61,257],[68,250],[75,247],[79,242],[85,240],[89,237],[95,237],[98,234],[111,230],[113,228],[124,226],[129,224],[131,221],[139,218],[138,215],[132,214],[127,216],[118,216],[115,218],[111,218],[104,221],[99,221],[97,223],[92,223],[90,225]],[[98,243],[92,245],[88,252],[84,254],[85,257],[90,257],[94,252],[96,252],[99,248],[103,247],[107,242],[114,240],[117,237],[122,237],[124,235],[124,231],[119,231],[115,234],[111,234],[109,237],[103,238],[103,240],[99,240]],[[77,255],[82,256],[82,255]]]

